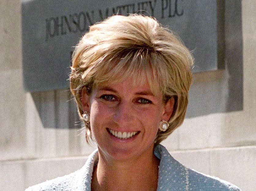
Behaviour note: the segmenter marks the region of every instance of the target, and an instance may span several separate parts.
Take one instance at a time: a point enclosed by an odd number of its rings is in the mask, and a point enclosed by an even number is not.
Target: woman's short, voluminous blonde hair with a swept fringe
[[[168,137],[184,120],[192,75],[193,57],[173,31],[156,19],[131,14],[115,15],[90,27],[75,47],[70,90],[83,120],[81,89],[90,95],[100,83],[116,83],[132,76],[134,84],[147,80],[153,92],[160,90],[163,101],[174,97],[174,111],[165,132],[158,131],[155,143]],[[86,140],[92,139],[85,123]]]

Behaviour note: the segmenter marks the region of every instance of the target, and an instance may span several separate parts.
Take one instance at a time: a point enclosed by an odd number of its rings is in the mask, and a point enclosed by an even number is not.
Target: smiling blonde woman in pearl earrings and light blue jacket
[[[98,149],[80,170],[29,190],[240,190],[190,170],[159,143],[185,117],[193,58],[155,19],[112,16],[75,48],[70,90]]]

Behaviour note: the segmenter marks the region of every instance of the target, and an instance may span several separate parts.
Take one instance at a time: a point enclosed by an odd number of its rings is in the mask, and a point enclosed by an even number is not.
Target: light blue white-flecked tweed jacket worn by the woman
[[[160,159],[157,191],[240,191],[229,182],[185,167],[162,145],[155,147],[154,154]],[[92,171],[97,160],[96,150],[80,170],[31,186],[25,191],[91,191]]]

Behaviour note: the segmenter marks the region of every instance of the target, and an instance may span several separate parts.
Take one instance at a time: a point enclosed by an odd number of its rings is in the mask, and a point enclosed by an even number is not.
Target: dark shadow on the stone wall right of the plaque
[[[224,18],[225,69],[194,74],[188,118],[243,110],[241,0],[225,1]]]

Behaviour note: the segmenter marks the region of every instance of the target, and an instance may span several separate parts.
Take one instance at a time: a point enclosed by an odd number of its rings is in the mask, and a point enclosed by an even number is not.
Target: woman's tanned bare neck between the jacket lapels
[[[99,162],[92,175],[92,191],[156,191],[159,162],[153,149],[150,154],[130,160],[108,159],[99,150]]]

